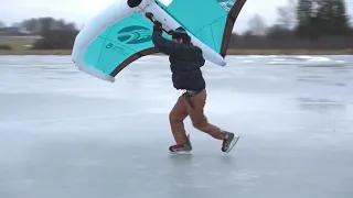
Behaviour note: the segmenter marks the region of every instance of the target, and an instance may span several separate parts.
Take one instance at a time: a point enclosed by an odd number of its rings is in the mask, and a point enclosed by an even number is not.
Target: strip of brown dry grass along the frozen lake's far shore
[[[33,50],[33,51],[0,51],[1,55],[71,55],[71,50]],[[154,54],[161,55],[161,54]],[[235,50],[231,48],[227,55],[353,55],[349,50]]]

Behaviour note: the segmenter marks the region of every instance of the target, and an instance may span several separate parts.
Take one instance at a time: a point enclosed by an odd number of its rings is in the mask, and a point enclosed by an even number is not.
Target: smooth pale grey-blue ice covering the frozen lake
[[[227,61],[203,68],[206,114],[239,142],[224,154],[188,119],[193,155],[170,156],[167,57],[111,84],[68,56],[0,56],[0,197],[352,198],[353,57]]]

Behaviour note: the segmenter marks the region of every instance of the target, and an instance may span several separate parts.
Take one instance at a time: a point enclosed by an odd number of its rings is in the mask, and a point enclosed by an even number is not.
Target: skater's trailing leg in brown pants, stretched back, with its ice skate
[[[239,138],[233,133],[221,130],[218,127],[213,125],[207,121],[207,118],[204,114],[206,98],[207,94],[205,89],[190,98],[193,107],[191,107],[189,103],[186,105],[189,116],[194,128],[210,134],[214,139],[222,140],[222,151],[229,152]]]

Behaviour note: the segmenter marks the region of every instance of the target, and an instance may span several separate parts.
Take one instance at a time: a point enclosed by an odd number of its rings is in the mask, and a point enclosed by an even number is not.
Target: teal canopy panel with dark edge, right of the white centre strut
[[[246,0],[173,0],[157,3],[208,47],[226,55],[234,23]]]

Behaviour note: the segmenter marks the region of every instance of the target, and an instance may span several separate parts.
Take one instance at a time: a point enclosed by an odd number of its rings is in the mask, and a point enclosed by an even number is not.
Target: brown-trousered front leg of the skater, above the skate
[[[169,114],[170,127],[178,145],[184,145],[188,141],[183,123],[186,117],[185,98],[181,96]]]

